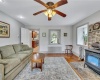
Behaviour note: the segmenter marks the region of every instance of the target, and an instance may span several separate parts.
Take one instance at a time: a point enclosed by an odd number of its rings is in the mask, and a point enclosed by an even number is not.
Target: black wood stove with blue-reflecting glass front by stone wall
[[[84,67],[85,65],[100,74],[100,50],[86,49]]]

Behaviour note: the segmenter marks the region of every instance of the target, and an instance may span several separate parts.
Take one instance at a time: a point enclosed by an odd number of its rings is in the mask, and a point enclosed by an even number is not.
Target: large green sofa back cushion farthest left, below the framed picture
[[[8,56],[10,56],[12,54],[15,54],[15,51],[14,51],[12,45],[0,47],[0,52],[1,52],[3,59],[7,58]]]

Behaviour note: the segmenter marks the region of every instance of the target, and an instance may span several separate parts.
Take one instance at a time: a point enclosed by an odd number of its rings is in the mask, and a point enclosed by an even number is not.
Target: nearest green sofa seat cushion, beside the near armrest
[[[14,59],[5,59],[7,61],[7,65],[4,66],[5,68],[5,74],[13,70],[18,64],[20,64],[20,59],[14,58]]]

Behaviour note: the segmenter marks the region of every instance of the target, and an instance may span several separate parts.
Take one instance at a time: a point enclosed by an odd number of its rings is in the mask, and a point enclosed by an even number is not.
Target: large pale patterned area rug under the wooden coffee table
[[[71,66],[63,57],[46,57],[43,70],[33,69],[30,63],[14,80],[80,80]]]

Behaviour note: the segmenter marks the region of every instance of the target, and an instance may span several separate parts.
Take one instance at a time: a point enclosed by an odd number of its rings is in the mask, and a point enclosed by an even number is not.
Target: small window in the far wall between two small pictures
[[[49,44],[60,44],[60,30],[49,30]]]

